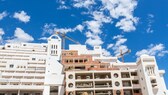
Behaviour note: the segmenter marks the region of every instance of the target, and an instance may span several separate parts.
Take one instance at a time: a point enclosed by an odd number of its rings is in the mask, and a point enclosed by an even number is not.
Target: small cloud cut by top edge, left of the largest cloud
[[[89,8],[91,5],[94,5],[95,1],[94,0],[74,0],[74,7],[77,8]]]

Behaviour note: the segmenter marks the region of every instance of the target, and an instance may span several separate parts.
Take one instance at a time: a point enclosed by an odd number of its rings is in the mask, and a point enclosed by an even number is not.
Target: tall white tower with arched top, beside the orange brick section
[[[61,39],[58,35],[52,35],[48,38],[45,89],[43,95],[63,95],[64,93],[63,65],[60,63],[60,56]]]

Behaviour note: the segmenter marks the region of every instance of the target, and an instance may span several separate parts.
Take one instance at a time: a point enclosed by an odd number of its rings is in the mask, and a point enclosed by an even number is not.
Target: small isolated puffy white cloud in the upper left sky
[[[30,16],[28,16],[27,13],[24,11],[15,12],[13,17],[24,23],[27,23],[30,21]]]

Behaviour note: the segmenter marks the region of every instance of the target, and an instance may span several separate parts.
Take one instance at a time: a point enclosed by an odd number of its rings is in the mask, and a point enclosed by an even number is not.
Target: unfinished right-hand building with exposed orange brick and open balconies
[[[84,45],[70,45],[63,51],[62,64],[66,95],[168,95],[165,71],[158,69],[154,56],[122,63],[103,56],[101,47],[87,50]]]

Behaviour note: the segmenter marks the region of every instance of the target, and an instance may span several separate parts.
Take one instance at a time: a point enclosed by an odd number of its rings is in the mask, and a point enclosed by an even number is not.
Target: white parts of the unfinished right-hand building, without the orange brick
[[[84,45],[70,45],[70,50],[77,50],[78,55],[92,55],[93,60],[109,62],[108,68],[119,70],[66,71],[66,95],[84,92],[89,95],[168,95],[163,78],[165,71],[158,69],[154,56],[142,55],[137,62],[122,63],[116,57],[103,56],[101,47],[87,50]],[[96,78],[95,74],[108,75],[108,78]],[[116,82],[120,85],[116,86]],[[117,90],[120,94],[116,94]]]

